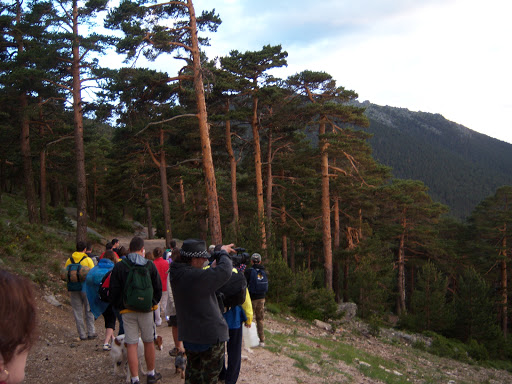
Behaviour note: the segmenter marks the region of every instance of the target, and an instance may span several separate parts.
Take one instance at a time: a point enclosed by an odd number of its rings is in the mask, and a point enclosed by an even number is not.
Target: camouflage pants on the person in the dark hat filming
[[[224,366],[224,343],[213,344],[204,352],[186,352],[185,384],[217,384]]]

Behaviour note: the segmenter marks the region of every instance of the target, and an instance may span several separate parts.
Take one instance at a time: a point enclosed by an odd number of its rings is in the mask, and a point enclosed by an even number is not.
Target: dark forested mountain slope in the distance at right
[[[401,179],[423,181],[451,214],[467,217],[502,185],[512,185],[512,145],[446,120],[439,114],[369,102],[374,157]]]

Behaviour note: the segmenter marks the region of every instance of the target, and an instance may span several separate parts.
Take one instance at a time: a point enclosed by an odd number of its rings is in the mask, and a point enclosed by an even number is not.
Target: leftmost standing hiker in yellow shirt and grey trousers
[[[74,252],[69,259],[66,260],[66,264],[64,268],[67,268],[71,264],[80,264],[81,267],[85,267],[90,270],[94,268],[94,262],[92,259],[87,256],[85,251],[87,250],[87,245],[83,241],[79,241],[76,243],[76,252]],[[73,261],[73,262],[72,262]],[[85,273],[84,273],[85,274]],[[68,282],[68,291],[69,298],[71,301],[71,308],[73,309],[73,315],[75,316],[76,329],[78,331],[78,336],[80,340],[92,340],[97,337],[96,329],[94,328],[94,315],[91,312],[91,308],[89,307],[89,301],[87,300],[87,295],[84,289],[85,276],[74,285],[75,287],[71,287],[71,284]],[[85,317],[85,325],[84,325],[84,317]],[[87,327],[87,332],[85,327]]]

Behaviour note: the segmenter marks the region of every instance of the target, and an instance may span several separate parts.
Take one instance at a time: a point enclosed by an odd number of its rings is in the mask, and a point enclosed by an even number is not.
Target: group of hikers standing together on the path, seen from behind
[[[94,320],[103,316],[103,349],[109,350],[117,319],[119,334],[125,335],[131,382],[139,383],[137,345],[140,335],[148,370],[147,383],[158,383],[162,376],[155,371],[154,340],[156,327],[167,321],[172,327],[175,345],[169,351],[170,355],[177,356],[186,352],[185,383],[236,383],[241,367],[242,325],[251,327],[253,311],[260,346],[265,345],[265,293],[251,293],[250,289],[254,286],[250,283],[251,278],[254,278],[252,270],[264,270],[261,256],[253,254],[253,265],[244,272],[244,268],[233,266],[230,257],[230,254],[236,253],[233,244],[211,246],[207,250],[204,241],[188,239],[183,242],[181,249],[173,241],[168,253],[164,253],[161,248],[146,253],[144,240],[134,237],[127,252],[121,252],[121,248],[119,241],[114,239],[107,244],[107,249],[100,257],[89,257],[88,245],[78,242],[76,252],[66,261],[65,267],[80,264],[89,270],[83,289],[70,291],[80,339],[96,338]],[[117,252],[123,255],[120,256]],[[248,280],[245,302],[230,308],[221,308],[216,292],[227,283],[233,273],[243,273]],[[149,294],[149,306],[128,304],[127,290],[133,288],[133,291],[137,284],[142,284],[137,283],[134,280],[137,277],[134,276],[144,274],[150,283],[133,295],[139,295],[142,302],[144,296]],[[98,296],[98,289],[105,285],[106,278],[109,278],[109,302]],[[228,356],[227,365],[225,350]]]

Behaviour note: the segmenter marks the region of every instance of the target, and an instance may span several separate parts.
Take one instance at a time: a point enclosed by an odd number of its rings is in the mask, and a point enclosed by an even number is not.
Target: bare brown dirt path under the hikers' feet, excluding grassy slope
[[[113,375],[110,355],[101,349],[105,334],[103,318],[96,320],[98,339],[77,341],[75,322],[66,296],[57,296],[65,304],[55,307],[42,297],[43,292],[40,295],[40,339],[29,354],[25,383],[124,383],[124,377]],[[273,329],[272,321],[268,323],[268,329]],[[162,384],[182,383],[183,380],[174,373],[174,359],[168,354],[173,347],[171,328],[162,325],[157,328],[157,333],[164,340],[163,350],[156,352],[156,367],[162,373]],[[263,348],[254,348],[252,353],[244,350],[242,355],[239,383],[317,382],[294,367],[294,360],[288,357],[276,356]],[[144,382],[141,375],[141,383]]]

